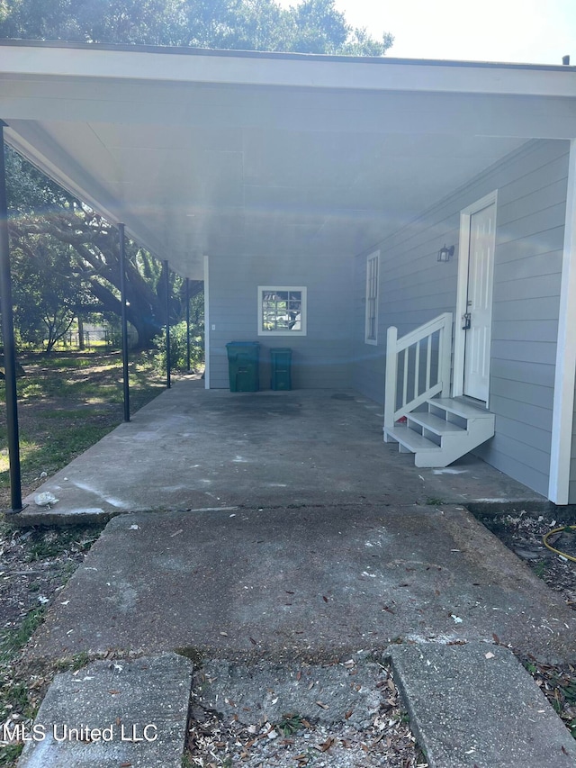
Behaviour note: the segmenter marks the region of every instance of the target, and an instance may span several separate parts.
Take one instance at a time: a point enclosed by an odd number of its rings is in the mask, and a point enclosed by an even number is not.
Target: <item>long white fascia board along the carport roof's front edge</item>
[[[138,47],[2,45],[0,74],[210,85],[576,96],[576,68]]]

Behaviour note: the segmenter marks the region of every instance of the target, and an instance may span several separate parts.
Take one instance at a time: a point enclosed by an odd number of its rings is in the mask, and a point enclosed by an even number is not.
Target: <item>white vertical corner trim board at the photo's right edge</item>
[[[572,140],[564,225],[562,287],[556,345],[552,446],[548,498],[567,504],[572,460],[574,384],[576,384],[576,140]]]

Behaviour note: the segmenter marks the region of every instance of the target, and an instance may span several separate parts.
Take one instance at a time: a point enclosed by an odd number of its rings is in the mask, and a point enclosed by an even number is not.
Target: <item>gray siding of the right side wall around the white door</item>
[[[382,401],[387,328],[395,325],[402,336],[441,312],[455,312],[460,212],[497,189],[489,402],[496,434],[477,453],[544,495],[569,149],[568,141],[530,141],[380,243],[380,354],[373,348],[372,356],[363,355],[355,336],[355,386]],[[456,253],[442,264],[437,251],[445,243],[455,244]],[[358,286],[364,261],[365,254],[356,258]],[[576,499],[576,463],[572,476]]]

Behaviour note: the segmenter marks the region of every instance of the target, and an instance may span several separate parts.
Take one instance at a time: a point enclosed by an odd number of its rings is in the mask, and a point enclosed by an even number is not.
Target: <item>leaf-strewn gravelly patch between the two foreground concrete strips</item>
[[[342,673],[350,676],[351,691],[357,687],[364,689],[368,683],[365,677],[359,678],[361,668],[354,659],[338,664]],[[310,680],[311,674],[314,675]],[[355,680],[356,677],[356,680]],[[308,680],[306,679],[308,678]],[[314,689],[321,691],[323,685],[319,676],[306,665],[293,673],[293,682],[303,682],[300,695]],[[362,685],[357,682],[362,680]],[[325,764],[340,763],[355,765],[385,764],[389,768],[423,768],[426,764],[415,745],[410,724],[403,709],[399,691],[392,678],[392,672],[382,667],[374,675],[369,687],[378,691],[380,708],[372,718],[367,718],[364,709],[351,707],[346,712],[337,711],[336,701],[311,698],[310,704],[319,708],[318,720],[302,716],[301,713],[284,714],[275,722],[272,719],[242,723],[238,716],[219,719],[213,710],[194,707],[191,711],[200,717],[200,721],[191,718],[187,754],[191,765],[197,768],[228,768],[238,765],[241,768],[311,768],[324,760]],[[276,690],[276,686],[274,686]],[[299,686],[294,690],[298,691]],[[324,689],[325,693],[327,692]],[[277,698],[271,687],[263,691],[263,696],[271,704]],[[316,693],[316,697],[319,694]],[[237,697],[238,712],[244,711]],[[265,709],[254,709],[255,718],[259,711],[262,716]],[[357,710],[357,717],[353,714]],[[325,723],[323,713],[333,711],[335,722]],[[328,713],[327,713],[328,714]],[[359,722],[364,723],[359,725]],[[346,751],[346,755],[344,752]],[[324,757],[324,755],[326,755]],[[351,762],[350,762],[351,761]]]

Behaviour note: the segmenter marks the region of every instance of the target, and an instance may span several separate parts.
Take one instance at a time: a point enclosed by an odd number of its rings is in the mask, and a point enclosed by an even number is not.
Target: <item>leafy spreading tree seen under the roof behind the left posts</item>
[[[53,307],[59,295],[62,297],[63,314],[59,316],[62,322],[74,308],[76,312],[100,310],[120,315],[118,230],[31,167],[13,149],[6,149],[6,167],[10,179],[8,203],[15,253],[14,285],[16,290],[20,289],[20,305],[29,308],[27,316],[38,320],[38,312],[33,312],[32,304],[36,302],[40,306],[40,299],[36,296],[33,301],[31,298],[27,301],[23,294],[28,292],[32,297],[33,286],[40,290],[42,285],[46,285],[49,294],[49,273],[43,271],[43,267],[48,268],[50,264],[59,270],[58,275],[69,276],[70,291],[76,294],[76,299],[67,296],[66,285],[59,285],[55,273],[58,292],[46,297],[42,312],[46,312],[47,306]],[[164,265],[128,240],[126,298],[129,304],[126,313],[138,332],[141,348],[148,348],[166,323],[165,280]],[[177,320],[184,306],[184,283],[173,273],[170,282],[171,319]],[[191,287],[192,295],[199,293],[202,281],[193,281]],[[54,314],[51,316],[55,317]],[[26,338],[31,340],[31,321],[26,321],[22,312],[17,314],[16,321],[26,326]],[[48,324],[46,320],[43,322]],[[36,323],[36,328],[39,327]]]

